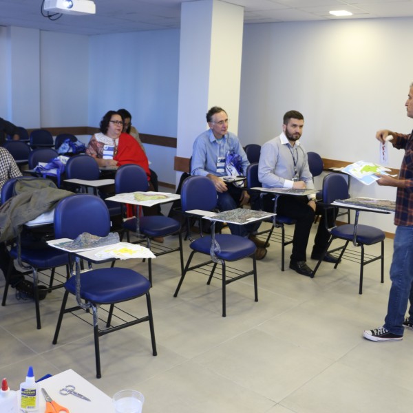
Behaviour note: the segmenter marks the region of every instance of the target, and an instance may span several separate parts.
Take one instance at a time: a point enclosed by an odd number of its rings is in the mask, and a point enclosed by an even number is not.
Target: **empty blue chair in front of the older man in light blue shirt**
[[[191,211],[191,209],[202,209],[205,211],[212,211],[217,205],[217,192],[213,182],[205,176],[191,176],[184,180],[181,189],[181,203],[182,211]],[[211,273],[207,284],[211,284],[211,279],[215,273],[215,268],[218,264],[222,267],[222,317],[226,317],[226,285],[237,279],[242,279],[248,275],[253,275],[254,279],[254,295],[255,301],[258,301],[257,288],[257,266],[255,261],[255,244],[248,240],[248,238],[240,237],[232,234],[215,234],[215,242],[218,242],[220,248],[215,249],[215,257],[211,257],[211,242],[213,242],[211,235],[200,237],[194,240],[189,245],[192,249],[189,259],[180,277],[176,291],[173,297],[177,297],[184,277],[189,271],[198,270],[202,266],[213,264]],[[191,261],[195,253],[201,253],[209,256],[207,262],[191,266]],[[242,260],[246,257],[253,258],[253,269],[251,271],[242,271],[242,273],[235,273],[226,271],[226,262],[234,262]]]

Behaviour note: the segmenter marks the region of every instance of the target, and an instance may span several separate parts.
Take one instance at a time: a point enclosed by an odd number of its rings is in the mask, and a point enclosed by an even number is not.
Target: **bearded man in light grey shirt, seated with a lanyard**
[[[261,148],[258,178],[264,188],[314,189],[313,176],[308,168],[307,153],[299,142],[304,127],[304,116],[295,110],[284,115],[282,134],[266,142]],[[264,198],[264,209],[273,211],[273,197]],[[306,249],[310,229],[317,208],[315,195],[282,195],[278,198],[277,213],[297,220],[293,235],[290,268],[310,277],[313,270],[306,264]],[[321,211],[323,212],[323,211]],[[319,260],[326,248],[330,233],[321,213],[311,258]],[[337,262],[329,253],[326,262]]]

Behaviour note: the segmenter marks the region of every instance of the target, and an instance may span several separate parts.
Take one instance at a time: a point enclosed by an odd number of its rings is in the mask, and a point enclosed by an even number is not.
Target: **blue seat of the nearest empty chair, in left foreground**
[[[65,288],[76,295],[76,277],[65,282]],[[96,304],[127,301],[145,294],[151,283],[129,268],[99,268],[81,273],[81,297]]]

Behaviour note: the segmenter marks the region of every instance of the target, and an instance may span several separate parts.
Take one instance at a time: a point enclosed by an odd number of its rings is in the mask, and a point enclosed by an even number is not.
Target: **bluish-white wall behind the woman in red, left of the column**
[[[179,30],[90,38],[89,125],[124,107],[145,134],[176,137]]]

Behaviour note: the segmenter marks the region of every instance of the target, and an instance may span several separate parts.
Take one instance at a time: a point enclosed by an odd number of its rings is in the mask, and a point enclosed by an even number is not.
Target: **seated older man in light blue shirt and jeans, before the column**
[[[221,107],[214,106],[207,113],[209,128],[204,131],[193,143],[191,160],[191,175],[207,176],[212,180],[218,193],[218,209],[230,211],[248,204],[250,197],[242,187],[232,183],[226,184],[221,176],[226,176],[225,160],[229,153],[240,155],[242,158],[242,173],[245,175],[249,165],[244,149],[237,136],[228,131],[228,115]],[[262,260],[266,256],[264,241],[259,240],[254,233],[260,223],[235,225],[230,224],[229,229],[234,235],[249,237],[257,246],[255,256]]]

